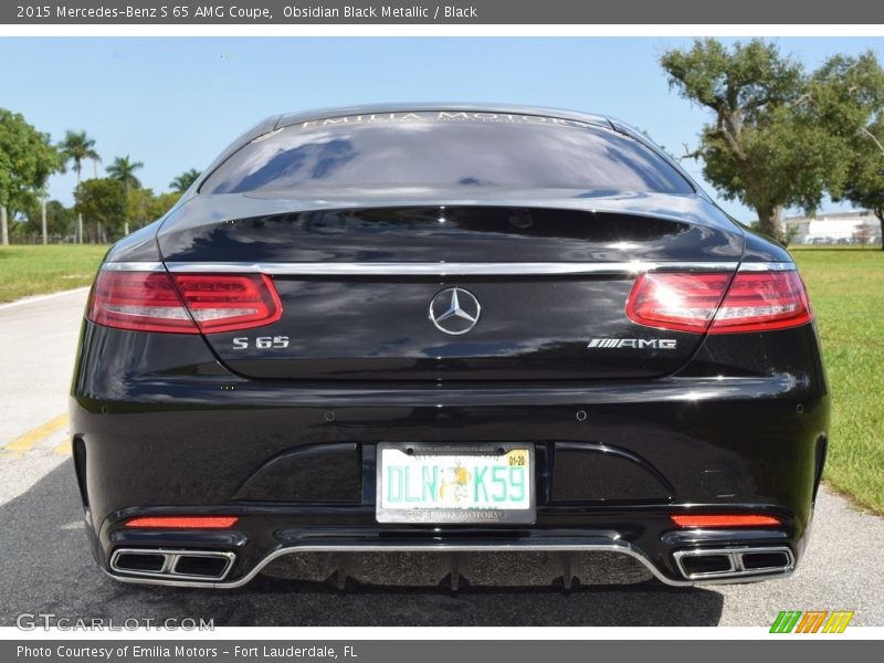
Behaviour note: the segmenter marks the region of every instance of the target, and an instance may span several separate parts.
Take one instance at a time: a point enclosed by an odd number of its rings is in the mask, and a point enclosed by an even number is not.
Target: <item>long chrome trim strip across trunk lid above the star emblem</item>
[[[736,262],[600,262],[600,263],[249,263],[170,262],[177,273],[261,273],[276,276],[543,276],[643,274],[645,272],[733,272]]]

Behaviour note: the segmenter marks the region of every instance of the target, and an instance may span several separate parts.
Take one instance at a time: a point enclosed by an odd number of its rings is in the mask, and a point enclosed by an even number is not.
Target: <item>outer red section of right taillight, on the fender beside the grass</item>
[[[741,272],[715,314],[709,334],[785,329],[810,318],[808,294],[798,272]]]

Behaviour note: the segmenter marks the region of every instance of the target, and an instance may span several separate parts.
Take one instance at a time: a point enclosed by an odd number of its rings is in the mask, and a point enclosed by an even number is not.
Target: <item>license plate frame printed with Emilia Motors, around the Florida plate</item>
[[[493,507],[411,507],[397,508],[385,506],[385,451],[399,452],[414,456],[451,456],[456,459],[478,459],[482,456],[507,457],[512,451],[524,451],[527,454],[527,467],[524,472],[527,481],[527,508]],[[377,445],[375,474],[375,517],[378,523],[398,523],[415,525],[534,525],[537,520],[537,482],[535,471],[534,444],[526,442],[494,443],[438,443],[438,442],[380,442]],[[394,456],[391,456],[394,457]],[[516,455],[518,457],[518,454]],[[503,464],[501,466],[504,466]],[[483,483],[484,485],[484,483]],[[507,484],[507,490],[508,490]],[[386,501],[389,504],[389,501]],[[519,501],[524,503],[524,498]]]

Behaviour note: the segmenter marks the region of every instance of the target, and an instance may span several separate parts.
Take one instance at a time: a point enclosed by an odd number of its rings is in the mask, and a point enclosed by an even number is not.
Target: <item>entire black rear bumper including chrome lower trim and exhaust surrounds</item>
[[[152,356],[168,366],[146,371],[133,365],[139,348],[131,347],[144,335],[91,324],[85,334],[86,348],[128,358],[118,365],[81,357],[72,398],[94,551],[127,582],[239,587],[298,552],[324,555],[322,572],[340,582],[348,564],[341,570],[341,559],[386,551],[433,555],[449,576],[450,565],[469,566],[475,554],[550,554],[558,560],[550,568],[566,569],[562,578],[568,568],[591,567],[592,556],[618,554],[682,586],[788,575],[806,544],[829,420],[821,370],[743,377],[696,370],[598,386],[297,385],[239,378],[199,337],[155,338]],[[781,334],[783,347],[815,347],[810,326]],[[186,370],[177,352],[188,357]],[[194,356],[204,362],[194,366]],[[414,441],[534,444],[536,524],[378,524],[375,445]],[[761,513],[782,525],[678,529],[670,515],[683,512]],[[124,526],[158,514],[240,520],[217,532]],[[780,551],[782,564],[744,572],[748,548]],[[112,568],[115,554],[128,549],[233,558],[217,578]],[[726,559],[734,572],[704,576],[680,565],[697,551],[717,551],[716,568]]]

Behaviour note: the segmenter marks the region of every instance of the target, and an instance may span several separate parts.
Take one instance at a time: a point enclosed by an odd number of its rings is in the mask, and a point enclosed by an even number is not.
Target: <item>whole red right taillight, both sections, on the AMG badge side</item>
[[[733,334],[797,327],[811,312],[797,272],[664,272],[639,276],[627,316],[660,329]]]

